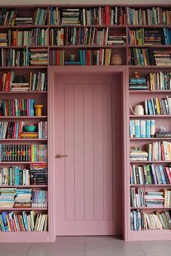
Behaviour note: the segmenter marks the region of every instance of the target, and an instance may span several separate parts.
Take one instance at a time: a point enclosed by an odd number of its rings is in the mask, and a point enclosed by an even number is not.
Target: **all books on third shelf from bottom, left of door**
[[[47,185],[47,164],[32,163],[30,168],[0,168],[0,185]]]

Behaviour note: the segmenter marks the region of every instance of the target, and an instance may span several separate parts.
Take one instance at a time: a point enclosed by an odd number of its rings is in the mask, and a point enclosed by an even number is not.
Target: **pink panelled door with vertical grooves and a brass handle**
[[[56,77],[55,154],[67,155],[55,158],[57,236],[121,229],[121,203],[114,203],[121,187],[114,186],[112,80]]]

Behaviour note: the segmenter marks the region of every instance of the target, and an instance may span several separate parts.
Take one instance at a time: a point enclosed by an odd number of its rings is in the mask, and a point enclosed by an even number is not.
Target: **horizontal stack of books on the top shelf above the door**
[[[63,9],[61,25],[79,25],[79,9]]]

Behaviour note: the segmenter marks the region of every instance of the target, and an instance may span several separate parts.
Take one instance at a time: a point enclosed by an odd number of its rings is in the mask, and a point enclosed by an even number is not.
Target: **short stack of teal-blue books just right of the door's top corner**
[[[147,79],[146,77],[131,77],[129,82],[130,90],[147,90]]]

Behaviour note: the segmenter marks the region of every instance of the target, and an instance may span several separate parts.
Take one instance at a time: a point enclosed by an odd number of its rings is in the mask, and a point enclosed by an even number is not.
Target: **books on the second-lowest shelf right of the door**
[[[140,187],[131,187],[131,207],[170,207],[170,193],[171,191],[169,190],[151,192],[144,191],[143,188]]]

